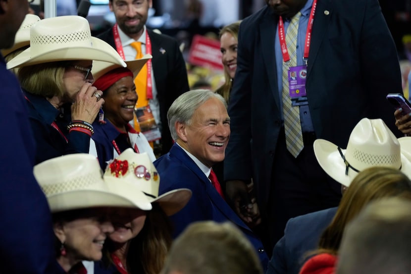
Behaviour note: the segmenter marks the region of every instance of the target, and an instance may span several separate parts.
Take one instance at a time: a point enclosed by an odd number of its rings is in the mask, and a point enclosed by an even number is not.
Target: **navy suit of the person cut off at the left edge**
[[[51,213],[33,175],[34,141],[23,95],[5,67],[0,82],[0,273],[55,274]]]

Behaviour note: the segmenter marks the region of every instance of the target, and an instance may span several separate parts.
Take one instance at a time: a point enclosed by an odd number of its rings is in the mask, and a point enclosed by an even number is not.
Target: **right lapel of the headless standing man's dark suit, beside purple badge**
[[[327,33],[331,15],[331,0],[318,0],[314,15],[314,24],[312,26],[312,40],[309,47],[307,77],[309,77],[309,73],[315,62],[321,43],[323,39],[326,38],[325,34]]]

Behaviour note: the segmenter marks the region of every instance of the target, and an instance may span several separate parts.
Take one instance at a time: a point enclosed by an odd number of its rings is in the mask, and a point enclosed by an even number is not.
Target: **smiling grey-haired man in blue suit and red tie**
[[[254,245],[265,270],[268,257],[261,241],[224,201],[218,183],[208,178],[212,165],[224,160],[230,136],[225,100],[212,91],[189,91],[171,105],[167,117],[176,143],[154,162],[161,177],[159,194],[181,187],[193,192],[184,209],[171,216],[175,236],[195,221],[231,221]]]

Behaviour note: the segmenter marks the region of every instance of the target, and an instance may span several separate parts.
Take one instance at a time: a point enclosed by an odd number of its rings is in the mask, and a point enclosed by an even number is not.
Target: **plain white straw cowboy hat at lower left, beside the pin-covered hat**
[[[113,189],[103,181],[96,157],[70,154],[34,166],[52,213],[89,207],[127,207],[151,210],[151,201],[141,191]],[[130,198],[131,197],[131,198]]]

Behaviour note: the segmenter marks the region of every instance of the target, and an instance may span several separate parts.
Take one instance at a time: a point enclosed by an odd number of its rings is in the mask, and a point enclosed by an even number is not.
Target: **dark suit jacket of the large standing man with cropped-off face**
[[[262,209],[282,127],[275,35],[278,16],[264,7],[244,19],[228,114],[225,180],[250,180]],[[306,84],[317,138],[346,148],[361,118],[382,118],[396,134],[388,93],[402,93],[396,48],[378,0],[318,0]]]

